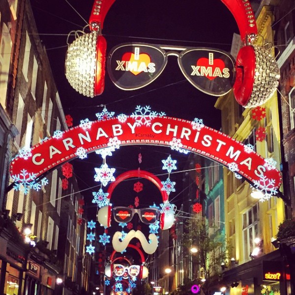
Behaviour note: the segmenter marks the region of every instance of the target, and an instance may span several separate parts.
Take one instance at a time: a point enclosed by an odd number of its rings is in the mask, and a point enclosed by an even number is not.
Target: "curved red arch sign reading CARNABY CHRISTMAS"
[[[76,126],[63,132],[60,139],[50,139],[31,148],[32,156],[27,160],[16,157],[10,164],[10,174],[19,175],[23,169],[41,177],[60,164],[76,158],[78,148],[87,153],[108,147],[110,138],[117,137],[120,146],[154,145],[171,147],[177,139],[183,149],[203,155],[229,167],[233,163],[236,172],[250,182],[260,182],[262,177],[272,182],[271,189],[281,185],[281,175],[277,169],[266,169],[265,159],[258,153],[249,150],[242,143],[220,131],[204,126],[194,128],[191,121],[155,117],[149,125],[138,125],[134,118],[127,117],[125,122],[118,118],[93,121],[91,129],[83,130]]]

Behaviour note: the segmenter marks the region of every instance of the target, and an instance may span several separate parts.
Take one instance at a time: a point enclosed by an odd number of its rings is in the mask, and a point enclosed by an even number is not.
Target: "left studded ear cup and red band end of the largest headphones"
[[[104,90],[107,42],[101,29],[114,1],[94,0],[89,18],[90,33],[84,30],[69,33],[69,36],[74,33],[75,40],[71,44],[67,42],[65,77],[76,91],[88,97],[99,95]]]

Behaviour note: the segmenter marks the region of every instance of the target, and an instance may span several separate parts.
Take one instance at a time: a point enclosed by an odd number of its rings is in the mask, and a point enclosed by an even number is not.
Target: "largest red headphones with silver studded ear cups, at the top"
[[[240,31],[241,40],[244,45],[251,43],[257,35],[257,26],[249,0],[221,0],[233,14]],[[106,60],[106,40],[101,35],[101,29],[105,16],[115,0],[94,0],[91,15],[89,18],[89,27],[91,30],[91,40],[96,47],[91,49],[88,55],[96,54],[95,73],[89,73],[84,70],[84,76],[80,79],[71,79],[71,76],[81,75],[82,70],[76,64],[76,59],[67,66],[66,76],[71,86],[86,96],[95,96],[103,92]],[[85,34],[87,35],[87,34]],[[87,38],[87,36],[83,38]],[[90,40],[90,39],[89,39]],[[81,40],[80,40],[81,41]],[[79,40],[75,46],[69,46],[67,55],[73,54],[75,57],[77,48],[79,50]],[[94,51],[94,52],[92,52]],[[85,55],[82,51],[81,55]],[[72,68],[76,67],[76,72]],[[71,73],[72,72],[72,73]],[[83,86],[83,81],[90,81],[89,75],[93,77],[92,83]],[[263,47],[247,45],[240,49],[236,58],[236,81],[233,86],[236,101],[245,108],[252,108],[265,103],[273,94],[278,86],[280,73],[275,59]]]

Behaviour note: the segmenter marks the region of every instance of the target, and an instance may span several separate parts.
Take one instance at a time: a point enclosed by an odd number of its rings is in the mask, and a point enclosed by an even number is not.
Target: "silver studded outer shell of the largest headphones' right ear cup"
[[[280,70],[273,56],[261,46],[252,45],[255,51],[254,85],[245,108],[260,106],[271,98],[277,89]]]

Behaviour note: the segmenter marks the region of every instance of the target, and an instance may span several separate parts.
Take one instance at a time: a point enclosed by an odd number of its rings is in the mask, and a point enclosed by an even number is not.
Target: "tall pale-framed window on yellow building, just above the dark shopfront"
[[[244,245],[244,260],[249,258],[250,252],[255,247],[254,239],[259,236],[258,228],[258,204],[242,215],[243,223],[243,245]]]

